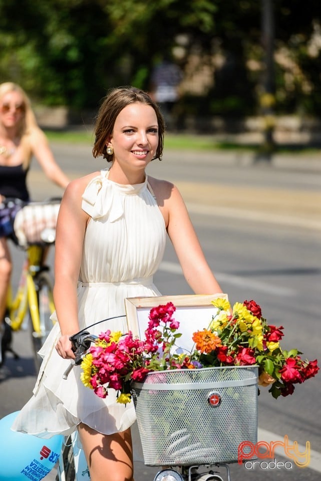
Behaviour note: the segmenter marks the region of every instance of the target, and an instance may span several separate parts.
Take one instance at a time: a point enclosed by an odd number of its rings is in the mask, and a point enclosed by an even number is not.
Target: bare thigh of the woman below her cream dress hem
[[[106,435],[81,423],[78,430],[91,481],[133,481],[130,429]]]

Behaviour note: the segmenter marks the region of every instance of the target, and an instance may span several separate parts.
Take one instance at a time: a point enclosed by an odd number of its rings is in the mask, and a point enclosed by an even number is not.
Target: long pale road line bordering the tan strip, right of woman
[[[232,217],[255,222],[271,222],[275,224],[291,225],[301,228],[321,230],[321,221],[292,215],[278,215],[258,210],[237,209],[233,207],[218,207],[194,202],[186,202],[189,212],[195,214]]]

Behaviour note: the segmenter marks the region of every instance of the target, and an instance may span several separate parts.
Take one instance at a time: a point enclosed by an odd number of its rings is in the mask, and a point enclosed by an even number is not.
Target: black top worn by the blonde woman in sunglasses
[[[28,201],[29,192],[26,183],[28,170],[29,168],[24,169],[22,164],[0,165],[0,194]]]

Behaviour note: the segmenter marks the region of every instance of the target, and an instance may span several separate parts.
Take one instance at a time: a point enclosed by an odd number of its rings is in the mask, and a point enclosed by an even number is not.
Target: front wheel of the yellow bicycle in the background
[[[47,339],[49,332],[53,327],[53,323],[50,319],[51,314],[54,311],[54,301],[53,301],[53,289],[50,276],[47,272],[40,272],[34,278],[34,285],[37,297],[37,313],[31,314],[31,330],[32,330],[32,343],[34,349],[35,366],[37,372],[40,369],[42,359],[38,354],[38,351],[43,346]],[[37,321],[35,322],[35,317],[37,316]]]

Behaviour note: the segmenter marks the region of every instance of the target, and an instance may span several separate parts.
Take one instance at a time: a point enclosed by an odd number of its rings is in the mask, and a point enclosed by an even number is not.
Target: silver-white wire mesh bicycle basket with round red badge
[[[236,462],[257,442],[257,366],[148,373],[132,384],[144,463]]]

